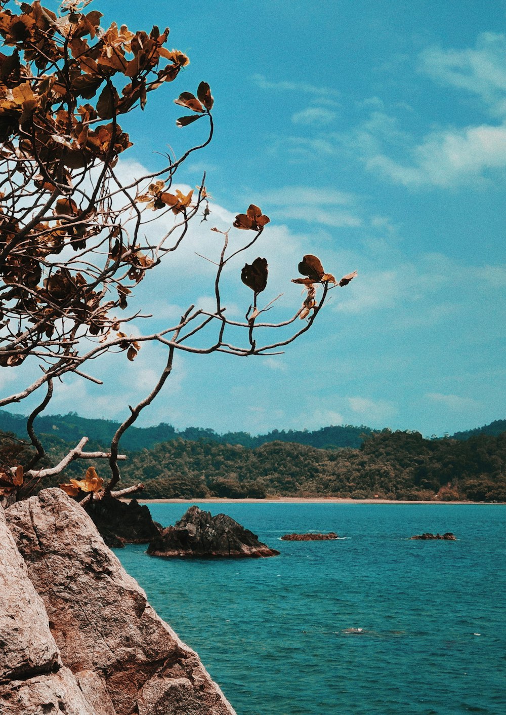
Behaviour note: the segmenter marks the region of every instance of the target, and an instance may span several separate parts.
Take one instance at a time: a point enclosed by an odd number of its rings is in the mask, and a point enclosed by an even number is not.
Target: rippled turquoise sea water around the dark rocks
[[[167,526],[187,506],[150,510]],[[506,713],[505,506],[199,506],[281,556],[116,554],[238,715]],[[279,541],[294,531],[344,538]],[[409,540],[425,531],[458,541]]]

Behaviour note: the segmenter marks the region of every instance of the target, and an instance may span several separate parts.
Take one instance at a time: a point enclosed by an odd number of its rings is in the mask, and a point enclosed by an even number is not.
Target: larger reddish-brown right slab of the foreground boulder
[[[90,713],[234,715],[197,654],[61,489],[16,503],[6,518]]]

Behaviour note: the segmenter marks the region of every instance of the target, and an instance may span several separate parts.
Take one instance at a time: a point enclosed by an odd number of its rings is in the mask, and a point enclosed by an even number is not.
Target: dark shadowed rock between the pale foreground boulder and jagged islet
[[[162,531],[147,506],[141,506],[137,499],[129,503],[111,497],[94,499],[86,505],[86,513],[107,546],[113,548],[126,543],[149,543]]]

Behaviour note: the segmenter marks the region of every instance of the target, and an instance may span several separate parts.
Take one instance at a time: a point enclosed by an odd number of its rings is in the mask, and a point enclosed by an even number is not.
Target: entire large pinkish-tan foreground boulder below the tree
[[[235,715],[62,490],[16,503],[6,523],[2,715]]]

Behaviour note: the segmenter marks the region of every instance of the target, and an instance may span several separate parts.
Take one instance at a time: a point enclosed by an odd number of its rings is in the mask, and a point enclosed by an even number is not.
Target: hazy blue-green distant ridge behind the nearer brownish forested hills
[[[90,448],[107,448],[111,443],[119,423],[111,420],[88,419],[77,413],[67,415],[39,415],[35,420],[35,429],[41,435],[52,435],[73,445],[81,437],[89,437]],[[457,432],[453,439],[467,440],[472,436],[485,434],[497,436],[506,431],[506,420],[495,420],[490,425],[467,432]],[[0,432],[12,432],[22,439],[27,438],[26,418],[0,410]],[[319,430],[272,430],[266,435],[250,435],[248,432],[228,432],[223,435],[212,429],[188,427],[176,430],[172,425],[160,423],[156,427],[131,427],[121,438],[121,448],[129,451],[151,449],[156,444],[169,440],[183,439],[191,441],[215,442],[223,445],[241,445],[250,449],[272,442],[289,442],[307,445],[318,449],[339,449],[350,447],[358,449],[363,442],[363,435],[372,435],[379,430],[360,425],[340,425],[322,427]]]

